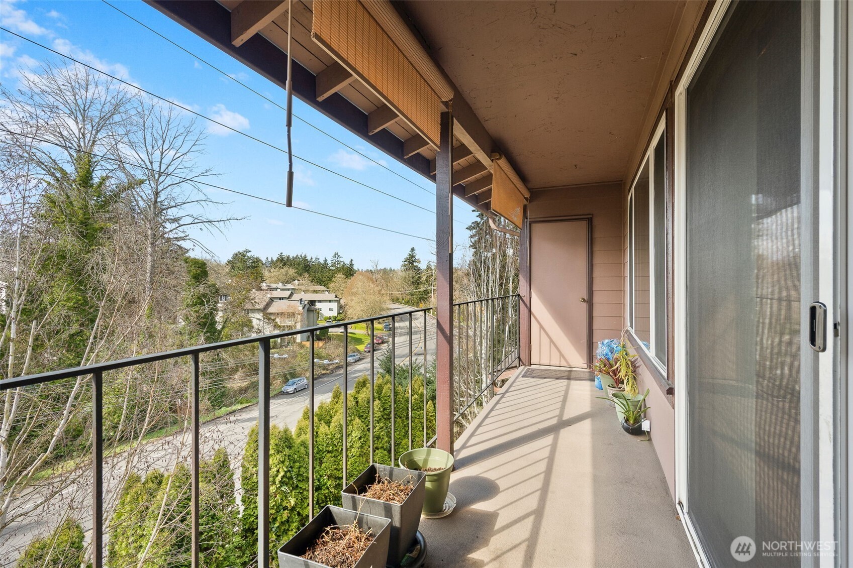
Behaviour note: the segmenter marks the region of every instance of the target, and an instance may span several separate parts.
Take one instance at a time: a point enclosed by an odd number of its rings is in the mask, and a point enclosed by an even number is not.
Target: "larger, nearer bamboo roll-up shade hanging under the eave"
[[[311,38],[438,149],[438,95],[357,0],[314,0]]]

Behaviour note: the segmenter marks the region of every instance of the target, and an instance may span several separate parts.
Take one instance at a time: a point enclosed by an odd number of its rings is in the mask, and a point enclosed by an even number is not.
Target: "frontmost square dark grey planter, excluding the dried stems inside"
[[[374,541],[358,559],[355,568],[384,568],[388,556],[388,536],[391,533],[391,521],[374,517],[365,513],[347,511],[340,507],[327,505],[311,519],[308,525],[302,527],[293,538],[285,542],[278,549],[279,568],[324,568],[326,565],[299,558],[308,550],[311,544],[320,536],[322,530],[333,525],[352,525],[353,521],[358,523],[362,530],[373,530]]]

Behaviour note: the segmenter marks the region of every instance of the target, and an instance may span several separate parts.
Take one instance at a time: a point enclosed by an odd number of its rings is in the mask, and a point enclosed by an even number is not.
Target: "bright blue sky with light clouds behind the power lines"
[[[281,106],[285,91],[243,66],[228,55],[177,25],[142,2],[113,2],[119,9],[182,45],[200,59],[223,69],[252,89]],[[223,124],[251,134],[265,142],[286,148],[285,114],[260,96],[220,72],[177,49],[144,27],[96,0],[49,2],[41,0],[0,0],[0,24],[93,67],[111,72],[142,88],[179,101],[194,111],[218,119]],[[61,57],[0,31],[0,80],[14,84],[16,69],[41,61],[61,61]],[[293,120],[293,151],[347,177],[397,195],[427,209],[435,209],[432,182],[386,157],[332,120],[294,99],[294,113],[380,161],[409,183],[380,165],[341,146],[328,136]],[[287,154],[252,141],[207,121],[206,154],[201,165],[212,167],[219,176],[212,183],[225,188],[284,200]],[[393,200],[334,174],[294,160],[296,183],[294,205],[363,223],[379,225],[435,238],[435,216],[431,212]],[[337,251],[353,258],[357,267],[397,266],[409,247],[415,246],[421,261],[434,261],[434,243],[376,229],[368,229],[309,212],[287,209],[222,191],[206,190],[212,199],[229,202],[223,209],[229,216],[246,217],[231,223],[224,235],[200,235],[200,240],[224,260],[231,253],[248,248],[258,256],[278,252],[331,257]],[[456,242],[467,241],[465,227],[473,220],[469,206],[455,202]],[[457,254],[461,250],[457,249]]]

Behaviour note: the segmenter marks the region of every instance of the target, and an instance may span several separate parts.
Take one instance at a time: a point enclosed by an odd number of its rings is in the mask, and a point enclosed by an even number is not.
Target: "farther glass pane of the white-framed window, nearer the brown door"
[[[651,341],[648,256],[648,162],[634,184],[634,333]]]

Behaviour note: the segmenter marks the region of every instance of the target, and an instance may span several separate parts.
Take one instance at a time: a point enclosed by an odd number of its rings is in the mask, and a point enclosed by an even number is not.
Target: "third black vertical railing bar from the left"
[[[270,565],[270,339],[258,341],[258,567]]]

